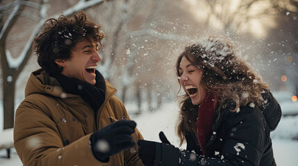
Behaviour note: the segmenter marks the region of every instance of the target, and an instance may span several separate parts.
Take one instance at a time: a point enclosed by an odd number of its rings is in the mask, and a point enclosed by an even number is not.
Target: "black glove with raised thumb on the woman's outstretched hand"
[[[163,143],[139,140],[139,157],[146,166],[177,166],[179,165],[179,149],[169,143],[163,131],[159,138]]]

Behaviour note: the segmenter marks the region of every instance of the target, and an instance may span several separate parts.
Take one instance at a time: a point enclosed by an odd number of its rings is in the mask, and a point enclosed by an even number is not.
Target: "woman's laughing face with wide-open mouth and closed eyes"
[[[192,104],[199,105],[204,101],[206,89],[201,86],[203,71],[191,64],[188,59],[182,57],[179,65],[180,84],[188,93]]]

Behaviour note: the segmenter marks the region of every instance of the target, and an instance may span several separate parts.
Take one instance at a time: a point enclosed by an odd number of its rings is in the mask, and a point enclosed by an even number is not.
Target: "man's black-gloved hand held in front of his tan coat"
[[[132,120],[118,120],[90,136],[92,154],[97,160],[107,163],[110,156],[135,146],[132,133],[137,124]]]

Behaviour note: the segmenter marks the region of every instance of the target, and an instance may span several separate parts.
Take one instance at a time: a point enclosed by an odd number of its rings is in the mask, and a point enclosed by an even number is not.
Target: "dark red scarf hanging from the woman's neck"
[[[199,106],[197,119],[197,138],[204,155],[206,154],[206,144],[211,136],[216,104],[217,97],[213,93],[208,93],[204,102],[202,102]]]

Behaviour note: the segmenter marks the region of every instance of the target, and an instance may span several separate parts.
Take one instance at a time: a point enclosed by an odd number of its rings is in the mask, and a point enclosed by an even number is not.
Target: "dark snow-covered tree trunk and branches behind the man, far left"
[[[104,0],[80,0],[74,6],[69,6],[63,11],[64,15],[70,16],[78,10],[90,8]],[[49,2],[47,0],[40,1],[1,1],[1,33],[0,33],[0,54],[1,54],[1,69],[3,77],[3,112],[4,112],[4,129],[13,127],[14,112],[15,112],[15,82],[17,77],[22,72],[30,55],[32,54],[32,44],[35,36],[40,33],[44,21],[49,17],[58,15],[48,15]],[[33,13],[33,12],[37,13]],[[35,22],[34,26],[21,27],[22,30],[15,30],[14,26],[20,26],[18,21],[22,21],[21,17],[26,17]],[[31,28],[33,30],[31,30]],[[9,35],[13,33],[29,34],[26,39],[21,53],[13,55],[8,45]],[[11,48],[11,46],[10,46]]]

